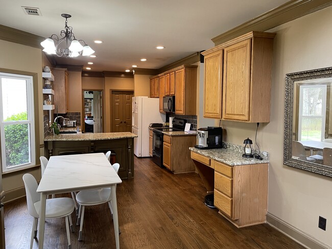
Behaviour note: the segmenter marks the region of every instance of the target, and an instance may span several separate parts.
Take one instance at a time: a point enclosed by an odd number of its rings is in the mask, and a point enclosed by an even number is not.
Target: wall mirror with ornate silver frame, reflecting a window
[[[332,177],[332,68],[286,75],[286,165]]]

